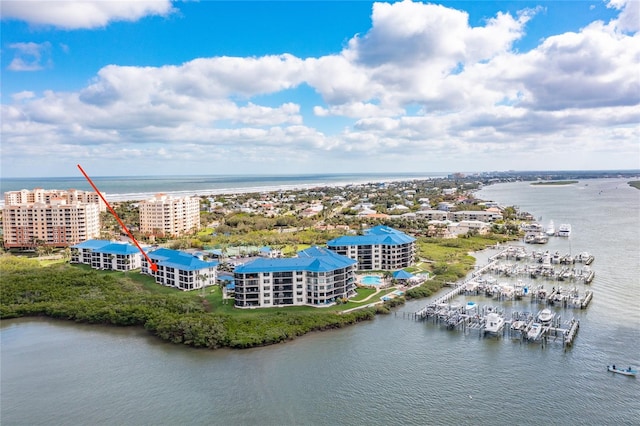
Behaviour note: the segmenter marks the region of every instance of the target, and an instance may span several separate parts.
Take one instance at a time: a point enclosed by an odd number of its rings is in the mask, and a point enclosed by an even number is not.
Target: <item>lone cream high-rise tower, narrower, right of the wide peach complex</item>
[[[200,199],[157,194],[141,201],[140,231],[147,235],[178,237],[200,229]]]

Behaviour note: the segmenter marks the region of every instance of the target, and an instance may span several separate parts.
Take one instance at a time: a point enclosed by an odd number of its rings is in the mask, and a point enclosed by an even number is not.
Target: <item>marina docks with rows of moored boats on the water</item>
[[[525,266],[540,264],[543,281],[551,283],[551,289],[544,284],[527,284],[518,279],[518,274],[530,274],[531,268],[520,267],[518,264],[505,262],[524,262]],[[595,273],[590,269],[577,269],[571,266],[591,264],[593,256],[582,253],[578,256],[560,256],[549,252],[527,253],[522,247],[509,246],[500,253],[489,258],[486,265],[476,269],[464,281],[452,283],[452,288],[432,300],[428,305],[414,313],[403,313],[403,317],[416,320],[429,320],[442,325],[448,330],[459,329],[467,333],[477,330],[479,336],[510,337],[527,343],[541,343],[544,347],[551,342],[561,343],[564,348],[573,345],[578,334],[580,322],[575,318],[562,321],[559,309],[586,309],[593,299],[593,291],[579,290],[578,285],[591,283]],[[511,271],[507,273],[506,271]],[[518,272],[519,271],[519,272]],[[510,276],[515,283],[498,283],[498,277]],[[559,277],[564,276],[564,279]],[[536,277],[529,276],[530,280]],[[566,281],[573,281],[570,287],[560,285]],[[561,282],[562,281],[562,282]],[[466,305],[455,303],[460,295],[485,296],[494,301],[520,300],[529,302],[538,310],[531,312],[514,311],[506,314],[500,306],[484,305],[480,307],[476,302]]]

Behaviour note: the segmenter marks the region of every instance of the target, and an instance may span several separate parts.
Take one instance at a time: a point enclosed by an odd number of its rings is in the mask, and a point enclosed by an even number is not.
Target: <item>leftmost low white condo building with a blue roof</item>
[[[129,243],[87,240],[71,246],[71,263],[82,263],[93,269],[130,271],[141,266],[142,254]]]

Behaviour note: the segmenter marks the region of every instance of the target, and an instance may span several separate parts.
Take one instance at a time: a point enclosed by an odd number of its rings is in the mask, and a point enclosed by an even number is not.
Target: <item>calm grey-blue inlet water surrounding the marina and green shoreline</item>
[[[637,424],[640,378],[605,366],[640,366],[640,191],[603,179],[500,184],[477,196],[571,223],[569,240],[540,248],[596,256],[593,302],[559,312],[581,321],[573,348],[402,318],[428,300],[243,351],[183,348],[136,329],[3,321],[2,424]]]

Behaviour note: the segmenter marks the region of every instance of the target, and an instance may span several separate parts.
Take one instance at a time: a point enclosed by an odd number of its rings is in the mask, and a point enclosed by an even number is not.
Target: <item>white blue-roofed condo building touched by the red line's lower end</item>
[[[158,266],[153,271],[147,259],[142,258],[142,273],[151,275],[156,282],[180,290],[195,290],[216,283],[218,262],[205,262],[178,250],[160,248],[147,253]]]

